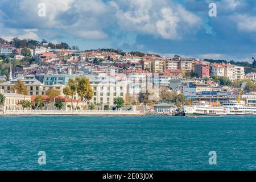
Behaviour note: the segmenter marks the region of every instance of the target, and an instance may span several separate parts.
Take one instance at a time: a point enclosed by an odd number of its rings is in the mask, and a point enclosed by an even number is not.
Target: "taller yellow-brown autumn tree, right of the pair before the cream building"
[[[93,90],[90,87],[90,81],[88,78],[76,77],[75,81],[77,82],[77,94],[79,96],[79,100],[76,104],[76,109],[77,109],[77,106],[79,105],[79,102],[81,100],[86,102],[92,99]]]

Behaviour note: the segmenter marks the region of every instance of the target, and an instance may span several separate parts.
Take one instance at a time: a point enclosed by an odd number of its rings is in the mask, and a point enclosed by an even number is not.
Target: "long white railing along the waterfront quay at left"
[[[10,115],[139,115],[133,110],[6,110]]]

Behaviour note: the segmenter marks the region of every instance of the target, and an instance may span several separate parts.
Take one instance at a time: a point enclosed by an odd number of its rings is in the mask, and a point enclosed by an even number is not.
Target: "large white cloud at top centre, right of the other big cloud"
[[[172,1],[123,0],[119,4],[112,1],[110,5],[116,9],[118,25],[122,30],[163,39],[180,39],[191,30],[197,30],[201,24],[198,16]]]

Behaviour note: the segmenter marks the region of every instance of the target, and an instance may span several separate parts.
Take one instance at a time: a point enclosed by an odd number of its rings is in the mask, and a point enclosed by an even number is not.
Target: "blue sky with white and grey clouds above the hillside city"
[[[210,17],[209,3],[217,5]],[[39,4],[46,16],[39,16]],[[42,12],[42,11],[40,11]],[[0,0],[0,36],[198,59],[256,57],[255,0]]]

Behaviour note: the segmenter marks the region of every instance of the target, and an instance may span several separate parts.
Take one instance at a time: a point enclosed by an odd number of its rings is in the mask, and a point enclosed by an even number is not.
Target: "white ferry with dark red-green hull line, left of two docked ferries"
[[[226,110],[222,106],[213,106],[202,101],[192,106],[184,106],[183,111],[186,117],[209,116],[209,115],[226,115]]]

